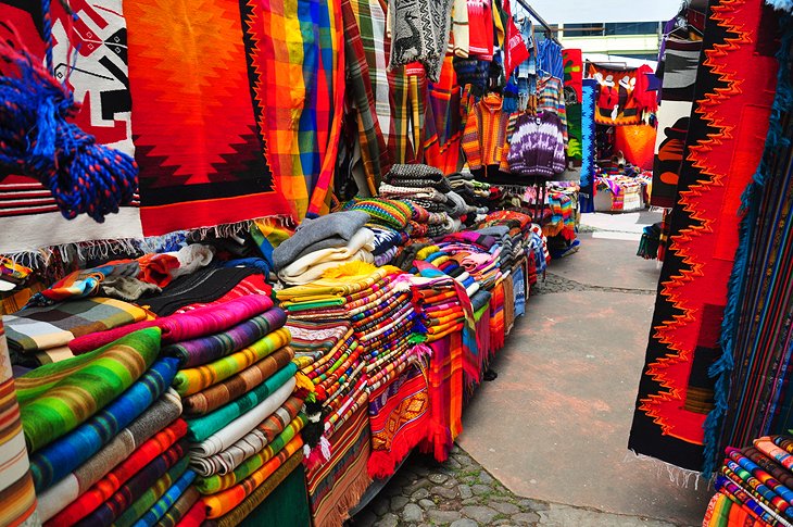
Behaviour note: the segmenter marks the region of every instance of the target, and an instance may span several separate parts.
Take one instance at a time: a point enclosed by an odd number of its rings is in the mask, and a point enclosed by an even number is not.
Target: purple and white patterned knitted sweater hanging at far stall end
[[[565,141],[558,115],[544,112],[518,117],[507,160],[515,175],[553,177],[564,172]]]

